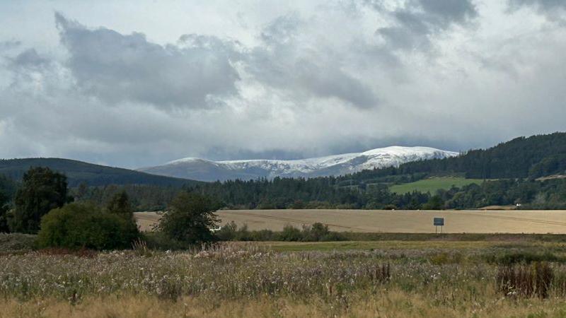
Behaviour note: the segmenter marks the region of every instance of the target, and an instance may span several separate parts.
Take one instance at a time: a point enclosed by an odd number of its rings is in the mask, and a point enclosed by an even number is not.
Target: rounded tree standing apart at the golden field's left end
[[[214,211],[218,206],[208,196],[194,192],[180,192],[171,202],[169,211],[158,225],[173,240],[187,244],[211,242],[210,232],[218,220]]]

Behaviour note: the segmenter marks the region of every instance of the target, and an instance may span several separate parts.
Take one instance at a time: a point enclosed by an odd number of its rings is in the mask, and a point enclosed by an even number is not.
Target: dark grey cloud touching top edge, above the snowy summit
[[[381,6],[372,4],[377,10]],[[478,16],[470,0],[412,0],[392,13],[395,25],[379,28],[381,35],[393,49],[427,49],[430,36],[446,30],[453,24],[466,23]]]

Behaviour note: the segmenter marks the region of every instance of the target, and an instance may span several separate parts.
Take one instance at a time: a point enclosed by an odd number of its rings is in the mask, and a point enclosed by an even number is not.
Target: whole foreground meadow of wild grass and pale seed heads
[[[377,243],[383,248],[277,252],[229,242],[159,252],[137,242],[130,251],[8,254],[0,257],[0,317],[566,315],[565,264],[492,258],[560,259],[563,244]]]

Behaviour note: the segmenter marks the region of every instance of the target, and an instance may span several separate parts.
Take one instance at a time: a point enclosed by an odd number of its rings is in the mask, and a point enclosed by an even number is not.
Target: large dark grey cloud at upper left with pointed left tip
[[[199,108],[211,97],[237,93],[229,42],[185,35],[178,45],[161,46],[142,33],[91,30],[59,13],[55,18],[69,69],[81,89],[101,100]]]

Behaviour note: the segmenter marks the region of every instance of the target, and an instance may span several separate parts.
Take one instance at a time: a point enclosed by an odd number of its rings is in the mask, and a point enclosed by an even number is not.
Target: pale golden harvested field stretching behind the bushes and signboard
[[[234,221],[250,230],[282,230],[320,222],[330,230],[352,232],[434,232],[432,219],[444,218],[447,233],[566,233],[566,211],[381,211],[381,210],[224,210],[222,224]],[[156,213],[136,213],[141,228],[156,223]],[[439,228],[440,230],[440,228]]]

